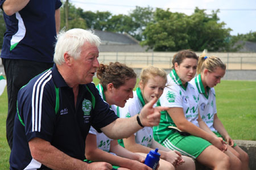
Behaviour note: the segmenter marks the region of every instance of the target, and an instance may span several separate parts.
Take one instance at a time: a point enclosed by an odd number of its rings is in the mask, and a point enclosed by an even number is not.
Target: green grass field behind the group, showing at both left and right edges
[[[94,80],[98,84],[98,80]],[[256,141],[256,82],[222,80],[215,88],[218,117],[233,139]],[[6,90],[0,96],[0,167],[9,169]]]

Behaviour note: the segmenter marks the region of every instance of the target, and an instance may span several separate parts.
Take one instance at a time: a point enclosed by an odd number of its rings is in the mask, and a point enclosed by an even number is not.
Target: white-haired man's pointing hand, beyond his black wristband
[[[166,111],[168,107],[153,107],[158,99],[154,97],[154,99],[150,100],[141,110],[139,114],[139,118],[143,126],[157,126],[160,122],[160,111]]]

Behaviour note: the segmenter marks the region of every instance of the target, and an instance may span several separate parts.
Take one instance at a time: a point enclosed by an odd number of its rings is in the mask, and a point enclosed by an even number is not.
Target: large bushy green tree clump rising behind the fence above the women
[[[156,9],[155,22],[147,25],[141,42],[155,51],[177,51],[192,49],[195,51],[227,51],[233,49],[234,39],[230,39],[232,29],[225,28],[225,23],[218,23],[217,13],[206,14],[196,7],[190,16]]]

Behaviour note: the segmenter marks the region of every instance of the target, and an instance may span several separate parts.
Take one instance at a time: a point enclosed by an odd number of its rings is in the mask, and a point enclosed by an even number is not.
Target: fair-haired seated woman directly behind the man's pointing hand
[[[129,99],[125,107],[120,108],[120,117],[133,117],[139,115],[144,104],[155,97],[163,94],[166,86],[166,72],[157,67],[149,66],[141,71],[141,78],[139,80],[139,87],[133,92],[133,99]],[[141,125],[143,126],[143,125]],[[144,127],[137,131],[134,135],[127,139],[122,139],[125,148],[132,152],[137,152],[146,156],[150,150],[159,149],[160,162],[159,170],[168,169],[195,169],[195,163],[187,156],[181,156],[177,151],[172,151],[166,148],[153,139],[153,131],[150,127]]]

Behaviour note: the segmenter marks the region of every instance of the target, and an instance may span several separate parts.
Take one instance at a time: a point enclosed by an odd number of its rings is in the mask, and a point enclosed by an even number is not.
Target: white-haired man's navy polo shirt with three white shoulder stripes
[[[50,142],[73,158],[85,159],[85,139],[90,125],[100,131],[118,117],[101,99],[93,83],[81,84],[76,107],[74,101],[73,90],[56,65],[20,89],[10,169],[24,169],[28,165],[34,169],[41,167],[32,159],[28,147],[28,141],[35,137]]]

